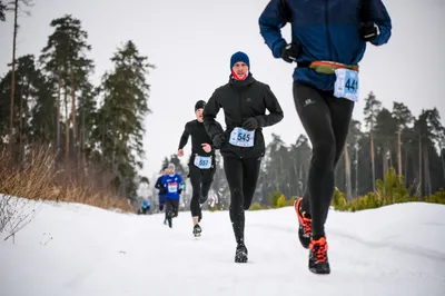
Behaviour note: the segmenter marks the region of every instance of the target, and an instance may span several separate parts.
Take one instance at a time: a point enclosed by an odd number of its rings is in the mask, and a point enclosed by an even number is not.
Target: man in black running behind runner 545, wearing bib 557
[[[191,156],[188,161],[189,177],[192,187],[190,201],[194,235],[200,236],[202,229],[199,225],[202,218],[201,206],[207,200],[215,176],[215,150],[211,139],[202,124],[202,111],[206,102],[199,100],[195,103],[196,119],[188,121],[179,140],[178,156],[184,156],[184,147],[191,137]]]

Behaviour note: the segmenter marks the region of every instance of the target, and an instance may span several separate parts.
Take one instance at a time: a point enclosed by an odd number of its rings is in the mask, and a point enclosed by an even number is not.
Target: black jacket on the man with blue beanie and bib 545
[[[225,131],[215,120],[221,108],[225,114]],[[269,111],[268,115],[266,109]],[[254,146],[238,147],[229,144],[233,129],[243,127],[243,122],[250,117],[258,121]],[[270,87],[257,81],[249,72],[246,80],[236,80],[230,76],[228,83],[214,91],[204,109],[204,126],[212,140],[220,134],[225,135],[225,141],[219,147],[224,157],[263,157],[266,150],[263,128],[281,121],[283,117],[281,107]]]

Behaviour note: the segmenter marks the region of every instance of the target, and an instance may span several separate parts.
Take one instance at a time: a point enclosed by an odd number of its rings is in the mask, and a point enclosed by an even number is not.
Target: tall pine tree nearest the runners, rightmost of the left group
[[[140,56],[132,41],[111,58],[115,69],[102,78],[103,105],[96,116],[95,140],[101,152],[103,169],[111,171],[112,184],[121,196],[135,197],[136,169],[144,158],[144,120],[150,112],[148,70],[155,66]]]

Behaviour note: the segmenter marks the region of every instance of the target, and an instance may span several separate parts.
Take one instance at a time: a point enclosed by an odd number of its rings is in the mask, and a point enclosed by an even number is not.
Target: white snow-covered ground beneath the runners
[[[204,215],[196,239],[188,211],[170,229],[161,215],[43,205],[0,243],[0,295],[445,295],[445,206],[330,211],[328,276],[307,269],[293,208],[247,213],[241,265],[228,213]]]

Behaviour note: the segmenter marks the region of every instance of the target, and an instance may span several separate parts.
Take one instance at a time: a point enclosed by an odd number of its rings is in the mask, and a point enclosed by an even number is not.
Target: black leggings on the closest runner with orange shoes
[[[325,223],[334,196],[334,170],[340,158],[354,102],[332,92],[294,82],[298,116],[313,146],[303,209],[310,214],[314,238],[325,235]]]

